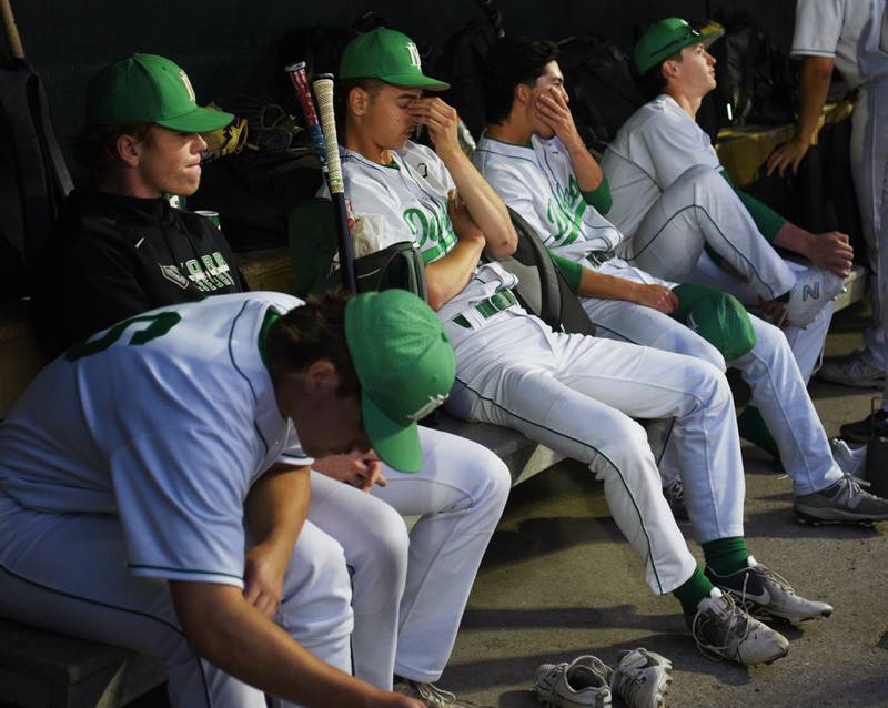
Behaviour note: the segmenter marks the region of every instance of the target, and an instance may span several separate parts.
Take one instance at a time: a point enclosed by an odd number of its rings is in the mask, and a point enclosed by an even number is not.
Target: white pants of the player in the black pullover
[[[309,518],[339,540],[352,573],[355,676],[436,681],[447,664],[512,476],[486,447],[420,427],[423,468],[385,467],[373,496],[312,473]],[[404,516],[422,516],[407,537]]]

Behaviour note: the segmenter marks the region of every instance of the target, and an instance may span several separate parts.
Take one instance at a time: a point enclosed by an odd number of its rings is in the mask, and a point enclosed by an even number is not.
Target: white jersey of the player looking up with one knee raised
[[[658,95],[633,113],[604,153],[614,199],[607,218],[632,237],[660,193],[696,165],[722,170],[709,135],[672,97]]]

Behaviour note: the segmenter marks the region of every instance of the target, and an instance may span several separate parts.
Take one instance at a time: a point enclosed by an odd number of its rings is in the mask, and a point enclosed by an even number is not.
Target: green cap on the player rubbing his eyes
[[[340,79],[379,79],[396,87],[446,91],[448,83],[423,74],[413,40],[379,27],[349,42],[340,62]]]

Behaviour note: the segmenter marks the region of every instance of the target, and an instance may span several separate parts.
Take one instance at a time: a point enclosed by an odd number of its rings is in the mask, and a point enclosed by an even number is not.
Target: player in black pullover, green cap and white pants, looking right
[[[164,101],[152,103],[158,95]],[[229,253],[221,231],[162,199],[198,189],[204,142],[193,131],[231,115],[199,109],[184,72],[145,54],[102,70],[88,103],[101,125],[84,134],[107,136],[101,191],[72,198],[59,223],[44,291],[52,307],[42,312],[56,348],[145,310],[241,290],[236,272],[220,265]],[[342,545],[351,569],[355,675],[391,689],[397,674],[398,690],[434,701],[432,682],[450,658],[512,478],[476,443],[427,427],[420,438],[424,464],[412,475],[392,474],[372,452],[316,461],[323,474],[311,475],[309,518]],[[402,514],[422,517],[410,536]]]

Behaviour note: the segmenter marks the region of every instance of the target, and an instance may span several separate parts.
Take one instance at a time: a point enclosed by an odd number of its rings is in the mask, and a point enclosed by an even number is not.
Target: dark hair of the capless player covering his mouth
[[[558,58],[554,42],[524,37],[498,40],[487,52],[482,81],[484,85],[484,119],[502,123],[512,112],[515,87],[531,88],[545,71],[546,64]]]

